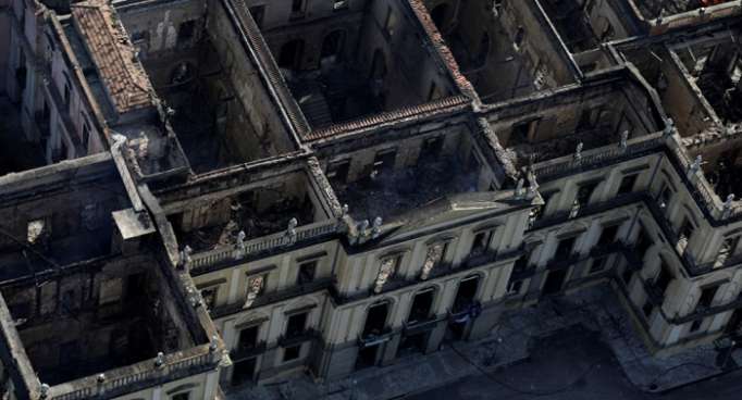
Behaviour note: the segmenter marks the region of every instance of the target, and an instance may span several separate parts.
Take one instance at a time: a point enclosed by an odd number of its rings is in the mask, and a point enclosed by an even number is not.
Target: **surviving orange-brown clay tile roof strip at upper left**
[[[151,84],[113,8],[106,0],[88,0],[71,8],[116,112],[151,105]]]

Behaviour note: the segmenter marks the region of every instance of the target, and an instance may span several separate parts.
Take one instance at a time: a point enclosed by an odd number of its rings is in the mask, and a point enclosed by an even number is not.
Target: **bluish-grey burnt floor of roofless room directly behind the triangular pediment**
[[[334,188],[354,218],[372,222],[381,216],[386,222],[446,195],[477,191],[478,180],[477,170],[467,170],[459,160],[447,158],[382,171],[350,184],[334,184]]]

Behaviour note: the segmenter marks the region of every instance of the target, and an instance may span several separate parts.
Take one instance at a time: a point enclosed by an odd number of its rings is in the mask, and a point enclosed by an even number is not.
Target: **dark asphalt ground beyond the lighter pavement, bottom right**
[[[429,389],[409,400],[739,400],[742,372],[696,385],[651,395],[626,377],[599,336],[571,327],[532,349],[531,361]]]

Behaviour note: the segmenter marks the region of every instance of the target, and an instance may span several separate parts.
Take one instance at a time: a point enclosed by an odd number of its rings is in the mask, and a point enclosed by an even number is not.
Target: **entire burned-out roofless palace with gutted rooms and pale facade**
[[[0,0],[2,395],[331,382],[595,285],[656,357],[740,335],[741,13]]]

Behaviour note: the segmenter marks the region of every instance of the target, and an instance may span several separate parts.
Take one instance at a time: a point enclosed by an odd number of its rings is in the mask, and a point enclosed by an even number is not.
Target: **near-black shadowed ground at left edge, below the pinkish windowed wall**
[[[21,110],[0,96],[0,176],[46,165],[44,148],[25,140]]]

